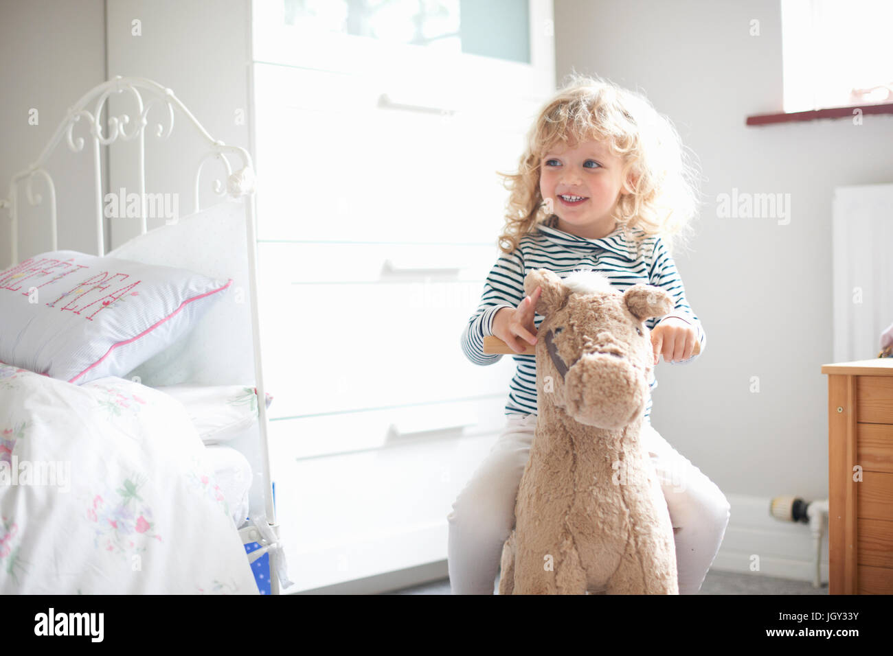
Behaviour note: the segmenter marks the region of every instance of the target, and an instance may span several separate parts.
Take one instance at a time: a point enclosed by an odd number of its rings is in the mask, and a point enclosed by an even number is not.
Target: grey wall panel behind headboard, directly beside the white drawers
[[[134,21],[139,21],[139,36],[134,36]],[[171,88],[213,138],[249,147],[248,0],[114,0],[108,3],[107,22],[110,78],[154,79]],[[131,107],[126,99],[117,106]],[[149,114],[149,120],[151,127],[166,119],[158,112]],[[136,151],[130,144],[121,146],[115,145],[110,154],[109,188],[136,192]],[[146,192],[177,194],[179,216],[188,215],[193,208],[192,181],[206,152],[204,141],[181,115],[175,117],[168,141],[147,134]],[[203,206],[213,202],[213,179],[223,172],[219,165],[205,166]],[[150,220],[149,229],[161,222]],[[136,234],[135,220],[113,220],[113,246]]]

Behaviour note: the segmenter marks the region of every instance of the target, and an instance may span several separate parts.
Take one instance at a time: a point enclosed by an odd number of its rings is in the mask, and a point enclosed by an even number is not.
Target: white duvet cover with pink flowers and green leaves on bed
[[[0,363],[0,594],[258,594],[185,408]]]

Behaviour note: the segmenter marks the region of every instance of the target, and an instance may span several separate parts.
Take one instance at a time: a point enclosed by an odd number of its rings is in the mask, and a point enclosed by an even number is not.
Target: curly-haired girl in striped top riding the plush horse
[[[480,306],[462,337],[463,353],[488,365],[483,353],[495,335],[523,353],[537,342],[543,317],[540,290],[524,295],[524,277],[549,269],[599,270],[619,291],[636,283],[661,286],[674,309],[647,320],[655,364],[692,361],[706,336],[686,301],[670,253],[671,239],[688,228],[697,198],[680,138],[670,122],[639,95],[602,79],[577,76],[539,113],[517,174],[505,176],[511,195],[503,254],[490,271]],[[493,594],[503,543],[514,525],[514,504],[537,423],[537,370],[532,355],[514,355],[517,370],[505,405],[507,424],[447,515],[448,566],[453,594]],[[657,386],[652,375],[651,390]],[[647,448],[674,528],[680,594],[695,594],[714,561],[729,522],[725,496],[700,469],[651,426]]]

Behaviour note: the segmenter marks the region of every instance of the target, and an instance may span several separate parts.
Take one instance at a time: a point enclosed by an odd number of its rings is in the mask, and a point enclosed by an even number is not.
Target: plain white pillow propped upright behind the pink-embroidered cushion
[[[129,372],[143,385],[243,385],[255,379],[244,201],[223,201],[135,237],[109,255],[232,278],[196,328]],[[221,353],[225,356],[221,357]]]

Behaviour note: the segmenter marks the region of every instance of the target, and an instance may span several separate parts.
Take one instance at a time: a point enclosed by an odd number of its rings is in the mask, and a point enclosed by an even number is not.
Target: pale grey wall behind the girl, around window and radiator
[[[826,497],[832,189],[893,180],[893,117],[745,126],[780,111],[778,0],[556,0],[555,43],[559,80],[574,68],[645,91],[707,178],[676,261],[708,343],[659,365],[655,428],[727,495]],[[732,187],[790,194],[789,225],[717,218]]]

